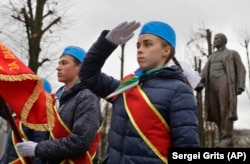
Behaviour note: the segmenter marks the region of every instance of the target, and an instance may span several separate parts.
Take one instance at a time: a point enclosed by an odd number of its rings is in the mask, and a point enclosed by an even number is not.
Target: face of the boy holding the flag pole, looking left
[[[62,55],[59,59],[57,70],[57,77],[59,82],[66,85],[74,84],[78,80],[78,72],[80,64],[75,62],[74,57],[70,55]]]

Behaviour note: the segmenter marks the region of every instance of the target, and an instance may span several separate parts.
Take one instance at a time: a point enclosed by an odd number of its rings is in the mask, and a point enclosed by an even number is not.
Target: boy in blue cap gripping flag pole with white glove
[[[68,46],[60,56],[58,81],[64,83],[55,94],[54,127],[51,139],[39,143],[17,143],[21,156],[37,156],[49,164],[91,164],[101,135],[99,98],[79,80],[85,51]]]

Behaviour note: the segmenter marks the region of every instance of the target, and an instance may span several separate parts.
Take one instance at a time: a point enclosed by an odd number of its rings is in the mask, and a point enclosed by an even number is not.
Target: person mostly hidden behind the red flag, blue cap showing
[[[47,93],[51,93],[52,87],[50,82],[46,78],[42,78],[43,80],[43,88]],[[10,111],[11,113],[12,111]],[[4,119],[8,120],[6,113],[3,109],[0,108],[0,116]],[[19,135],[24,138],[27,141],[33,141],[33,142],[40,142],[42,140],[49,139],[49,131],[38,131],[31,128],[28,128],[25,126],[22,121],[16,117],[15,113],[12,114],[13,120],[15,121],[16,127],[18,128],[18,131],[20,132]],[[27,163],[27,160],[31,162],[32,164],[46,164],[46,161],[41,160],[38,157],[25,159],[22,156],[19,155],[19,152],[17,152],[17,148],[15,147],[15,144],[17,143],[17,138],[15,136],[15,133],[13,130],[10,132],[5,152],[0,159],[0,164],[6,164],[6,163],[12,163],[12,164],[23,164]]]

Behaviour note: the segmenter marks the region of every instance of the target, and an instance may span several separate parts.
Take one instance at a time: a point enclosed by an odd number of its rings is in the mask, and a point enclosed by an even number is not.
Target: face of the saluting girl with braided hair
[[[137,62],[141,69],[161,68],[170,57],[171,47],[155,35],[141,34],[137,42]]]

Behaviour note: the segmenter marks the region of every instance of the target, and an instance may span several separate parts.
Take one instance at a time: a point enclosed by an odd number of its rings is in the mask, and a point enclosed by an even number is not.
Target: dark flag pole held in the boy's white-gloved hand
[[[12,115],[11,115],[10,109],[9,109],[8,105],[6,104],[6,102],[4,101],[4,99],[3,99],[3,97],[1,95],[0,95],[0,107],[3,108],[3,110],[4,110],[5,114],[6,114],[6,119],[7,119],[8,123],[10,124],[10,126],[11,126],[11,128],[12,128],[12,130],[14,132],[14,135],[15,135],[15,137],[17,139],[17,142],[23,142],[22,137],[21,137],[21,135],[19,133],[19,130],[18,130],[16,124],[15,124],[15,121],[14,121]],[[30,158],[26,157],[24,159],[25,159],[27,164],[32,163]]]

